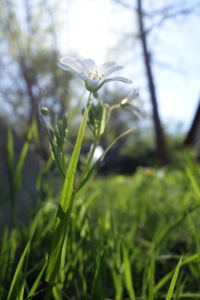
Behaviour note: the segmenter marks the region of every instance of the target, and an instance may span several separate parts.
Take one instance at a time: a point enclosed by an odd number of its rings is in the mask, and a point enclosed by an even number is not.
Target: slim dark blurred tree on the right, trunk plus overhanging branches
[[[180,15],[189,15],[191,13],[199,13],[200,10],[200,1],[176,1],[164,4],[163,7],[157,10],[152,10],[150,12],[146,11],[143,8],[142,0],[137,0],[136,5],[130,5],[128,2],[123,0],[114,0],[115,3],[122,5],[124,8],[130,9],[137,14],[138,18],[138,34],[135,38],[139,38],[142,50],[143,50],[143,60],[146,69],[149,93],[151,97],[151,103],[153,107],[153,122],[154,122],[154,131],[155,131],[155,139],[156,139],[156,149],[157,155],[162,165],[165,165],[170,161],[164,134],[162,131],[162,126],[160,122],[160,117],[158,113],[157,107],[157,97],[155,91],[154,77],[152,72],[152,53],[148,47],[148,35],[155,27],[161,26],[165,20],[167,19],[175,19]],[[145,19],[145,20],[144,20]],[[146,28],[146,19],[151,24],[148,28]]]

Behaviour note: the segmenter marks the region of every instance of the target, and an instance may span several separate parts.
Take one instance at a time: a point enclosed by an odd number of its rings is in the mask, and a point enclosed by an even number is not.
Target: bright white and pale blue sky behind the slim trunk
[[[153,9],[158,8],[155,1],[144,1],[149,12],[149,4],[154,4]],[[162,7],[161,4],[159,1]],[[133,87],[139,87],[144,111],[151,112],[142,49],[140,41],[134,39],[135,13],[109,0],[73,0],[63,8],[65,26],[60,28],[58,39],[63,56],[74,53],[82,59],[90,57],[97,66],[106,60],[123,64],[124,69],[116,75],[132,79]],[[151,23],[147,19],[145,25]],[[184,131],[189,130],[199,103],[199,28],[200,16],[183,16],[165,21],[148,36],[160,117],[162,122],[171,124],[172,131],[177,122],[183,123]],[[127,93],[133,88],[123,83],[117,86],[126,88]],[[115,87],[116,83],[109,83],[111,90]]]

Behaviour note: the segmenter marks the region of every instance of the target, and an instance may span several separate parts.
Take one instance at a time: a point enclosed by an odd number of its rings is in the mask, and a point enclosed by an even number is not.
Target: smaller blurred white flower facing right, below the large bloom
[[[138,88],[134,89],[128,97],[122,100],[121,107],[123,109],[132,111],[136,116],[142,119],[141,116],[142,101],[139,100]]]

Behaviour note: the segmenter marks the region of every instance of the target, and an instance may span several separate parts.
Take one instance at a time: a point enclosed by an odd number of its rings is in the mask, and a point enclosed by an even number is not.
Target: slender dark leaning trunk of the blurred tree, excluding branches
[[[142,14],[141,2],[142,2],[142,0],[138,0],[138,18],[139,18],[139,25],[140,25],[140,38],[141,38],[142,47],[143,47],[144,63],[145,63],[145,67],[146,67],[147,77],[148,77],[149,91],[151,94],[151,101],[152,101],[152,105],[153,105],[153,120],[154,120],[154,127],[155,127],[156,148],[157,148],[157,154],[158,154],[158,158],[159,158],[161,165],[165,165],[165,164],[169,163],[170,160],[169,160],[169,157],[167,154],[167,148],[166,148],[162,128],[160,125],[160,119],[159,119],[159,115],[158,115],[157,100],[156,100],[153,75],[152,75],[151,65],[150,65],[150,55],[147,50],[146,33],[144,31],[144,26],[143,26],[143,14]]]

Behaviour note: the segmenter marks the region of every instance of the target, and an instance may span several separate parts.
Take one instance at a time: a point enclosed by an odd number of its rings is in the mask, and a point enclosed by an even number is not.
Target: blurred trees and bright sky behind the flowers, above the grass
[[[192,134],[198,137],[192,135],[189,142],[198,141],[200,1],[0,0],[0,26],[0,115],[23,138],[36,117],[40,149],[32,149],[44,159],[49,145],[38,106],[49,108],[54,123],[56,115],[59,119],[75,107],[84,91],[80,79],[57,66],[65,55],[92,58],[97,66],[106,60],[125,66],[116,75],[131,79],[133,86],[105,84],[99,91],[105,103],[119,103],[139,87],[143,119],[114,111],[100,141],[105,148],[124,130],[136,127],[110,152],[115,164],[120,156],[124,166],[117,172],[169,163],[171,152],[187,139],[195,116]],[[72,145],[84,104],[85,100],[68,133]],[[87,152],[89,132],[84,143]],[[109,168],[114,171],[112,164]]]

